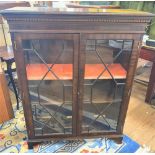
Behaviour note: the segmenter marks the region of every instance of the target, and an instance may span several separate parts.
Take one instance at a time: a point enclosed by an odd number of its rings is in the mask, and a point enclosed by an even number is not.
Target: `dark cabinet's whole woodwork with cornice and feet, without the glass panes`
[[[75,139],[83,137],[108,137],[121,142],[123,126],[127,113],[129,98],[136,64],[139,56],[140,40],[146,24],[153,17],[152,14],[135,12],[131,10],[97,10],[89,12],[88,9],[69,10],[35,10],[21,8],[21,10],[3,11],[8,20],[12,42],[14,45],[15,59],[19,85],[22,88],[22,99],[25,111],[26,126],[28,131],[29,146],[32,143],[52,139]],[[99,12],[98,12],[99,11]],[[35,136],[32,120],[32,111],[29,103],[26,66],[22,49],[23,39],[35,38],[59,38],[74,41],[74,118],[73,135],[45,135]],[[116,132],[81,133],[81,115],[83,98],[83,80],[85,65],[86,39],[128,39],[133,40],[133,50],[128,64],[127,79],[123,95],[123,103],[120,107],[119,119]],[[29,117],[31,116],[31,117]]]

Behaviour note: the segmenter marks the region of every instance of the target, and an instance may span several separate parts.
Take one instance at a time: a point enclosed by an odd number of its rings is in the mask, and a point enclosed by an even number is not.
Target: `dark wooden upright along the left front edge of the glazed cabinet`
[[[34,137],[34,126],[32,120],[32,111],[29,101],[29,93],[27,88],[27,76],[25,70],[24,54],[22,49],[22,41],[20,34],[12,34],[12,43],[17,66],[17,75],[19,79],[19,88],[21,89],[22,105],[24,110],[25,122],[27,127],[28,138]]]

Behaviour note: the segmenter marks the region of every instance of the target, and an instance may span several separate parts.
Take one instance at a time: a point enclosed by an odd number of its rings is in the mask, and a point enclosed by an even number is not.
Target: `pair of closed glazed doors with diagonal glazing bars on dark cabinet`
[[[119,133],[134,44],[130,34],[17,34],[15,56],[31,134]]]

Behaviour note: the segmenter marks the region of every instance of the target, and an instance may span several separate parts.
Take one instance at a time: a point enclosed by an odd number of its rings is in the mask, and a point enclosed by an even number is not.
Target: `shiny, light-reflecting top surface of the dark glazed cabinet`
[[[0,11],[2,15],[120,15],[120,16],[155,16],[154,14],[131,9],[98,9],[98,8],[48,8],[48,7],[15,7]]]

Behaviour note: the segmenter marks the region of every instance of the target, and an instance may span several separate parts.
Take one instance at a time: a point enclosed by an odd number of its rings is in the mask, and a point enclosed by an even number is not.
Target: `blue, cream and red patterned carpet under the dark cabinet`
[[[122,144],[112,140],[84,139],[83,141],[61,140],[35,145],[33,150],[28,150],[26,142],[27,132],[23,108],[15,110],[15,118],[0,126],[0,152],[2,153],[134,153],[146,152],[138,143],[128,136],[123,137]]]

